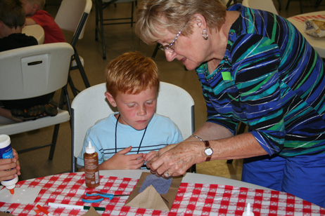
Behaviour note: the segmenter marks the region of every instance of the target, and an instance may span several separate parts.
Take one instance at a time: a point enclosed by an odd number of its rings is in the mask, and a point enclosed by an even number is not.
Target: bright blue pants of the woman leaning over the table
[[[241,180],[284,191],[325,208],[325,154],[246,158]]]

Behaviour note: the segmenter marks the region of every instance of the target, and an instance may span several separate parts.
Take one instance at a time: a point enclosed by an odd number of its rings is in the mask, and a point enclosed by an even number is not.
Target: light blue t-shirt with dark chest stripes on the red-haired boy
[[[84,166],[84,152],[89,141],[98,153],[99,164],[111,158],[115,152],[129,146],[132,146],[132,150],[128,154],[137,154],[138,151],[139,153],[148,153],[149,151],[158,151],[167,144],[183,141],[181,131],[172,120],[155,114],[147,126],[145,135],[144,130],[135,130],[131,126],[117,123],[117,149],[115,151],[115,125],[117,121],[115,114],[110,114],[106,119],[98,121],[87,130],[82,152],[77,158],[78,167]],[[143,136],[144,139],[141,147],[139,147]]]

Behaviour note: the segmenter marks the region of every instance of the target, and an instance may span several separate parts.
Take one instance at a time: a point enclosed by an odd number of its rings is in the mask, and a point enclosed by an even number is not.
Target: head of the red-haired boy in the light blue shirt
[[[158,67],[139,52],[125,53],[106,67],[105,93],[120,112],[119,122],[143,130],[155,114],[159,90]]]

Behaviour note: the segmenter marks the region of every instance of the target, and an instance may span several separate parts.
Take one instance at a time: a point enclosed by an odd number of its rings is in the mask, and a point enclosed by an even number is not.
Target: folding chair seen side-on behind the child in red
[[[75,54],[72,56],[72,67],[71,70],[79,69],[84,86],[88,88],[90,86],[86,72],[84,72],[84,59],[78,55],[76,49],[76,43],[78,39],[84,37],[84,29],[86,26],[87,18],[91,11],[92,1],[91,0],[63,0],[56,13],[55,21],[60,27],[68,32],[74,32],[71,46],[75,49]],[[77,95],[79,90],[75,88],[71,77],[69,76],[69,85],[71,87],[73,95]]]

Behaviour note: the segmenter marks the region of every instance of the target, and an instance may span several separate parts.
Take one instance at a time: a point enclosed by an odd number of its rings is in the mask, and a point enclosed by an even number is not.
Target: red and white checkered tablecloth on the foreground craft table
[[[131,194],[137,179],[101,176],[96,188],[106,193]],[[33,204],[1,203],[0,210],[13,215],[36,215],[36,205],[42,205],[53,215],[84,215],[84,211],[49,208],[46,203],[91,205],[83,203],[82,196],[91,191],[84,185],[84,173],[64,173],[18,182],[16,187],[42,187]],[[94,206],[105,207],[101,215],[242,215],[247,203],[258,215],[325,215],[320,208],[300,198],[279,191],[248,189],[219,184],[181,183],[170,212],[124,206],[127,196],[104,199]],[[41,212],[39,215],[43,215]]]

